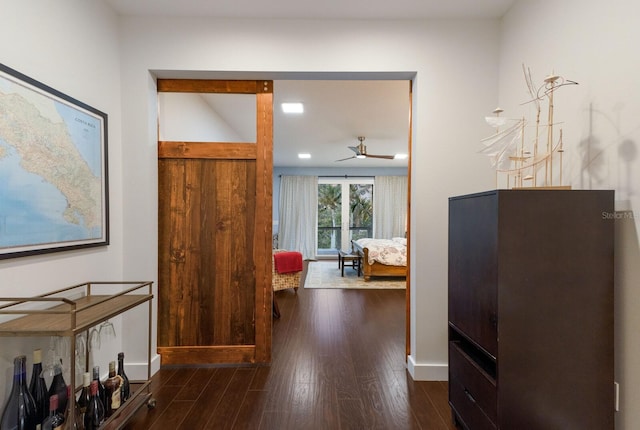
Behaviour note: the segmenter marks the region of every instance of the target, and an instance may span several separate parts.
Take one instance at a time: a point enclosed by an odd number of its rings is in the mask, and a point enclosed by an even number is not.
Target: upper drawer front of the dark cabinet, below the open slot
[[[449,342],[449,375],[450,379],[459,385],[458,397],[464,397],[495,423],[497,420],[495,380],[484,372],[457,342]],[[450,397],[453,400],[453,396]]]

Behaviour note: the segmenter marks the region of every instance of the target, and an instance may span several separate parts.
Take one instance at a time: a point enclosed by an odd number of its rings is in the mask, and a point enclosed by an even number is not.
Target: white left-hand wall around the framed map
[[[122,272],[122,148],[117,17],[102,2],[0,0],[0,62],[109,115],[111,244],[106,247],[0,260],[0,295],[35,295]],[[0,202],[1,204],[1,202]],[[48,339],[0,338],[0,405],[11,389],[13,357],[46,351]],[[103,351],[115,359],[114,351]],[[107,371],[100,362],[101,370]],[[68,379],[67,379],[68,381]],[[1,407],[1,406],[0,406]]]

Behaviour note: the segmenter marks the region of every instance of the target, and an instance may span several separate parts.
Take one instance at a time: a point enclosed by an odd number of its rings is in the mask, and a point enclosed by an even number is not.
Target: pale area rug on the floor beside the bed
[[[365,282],[362,276],[349,265],[344,268],[344,277],[340,276],[337,261],[310,261],[304,288],[362,288],[362,289],[400,289],[406,288],[404,278],[372,277]]]

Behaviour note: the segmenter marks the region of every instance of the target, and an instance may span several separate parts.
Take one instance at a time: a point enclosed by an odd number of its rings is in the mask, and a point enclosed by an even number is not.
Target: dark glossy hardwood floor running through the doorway
[[[404,290],[276,294],[270,366],[163,367],[125,429],[455,429],[447,383],[406,370]]]

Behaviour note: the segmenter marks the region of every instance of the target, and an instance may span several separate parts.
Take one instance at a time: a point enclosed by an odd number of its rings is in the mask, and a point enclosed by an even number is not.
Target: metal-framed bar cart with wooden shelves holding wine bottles
[[[108,292],[106,292],[107,290]],[[114,290],[118,292],[113,293]],[[131,382],[131,396],[101,426],[105,430],[122,428],[144,405],[155,407],[151,393],[151,315],[153,282],[107,281],[86,282],[33,297],[0,297],[0,317],[14,317],[0,323],[0,336],[60,336],[69,338],[69,385],[76,384],[76,335],[89,331],[143,303],[149,305],[147,379]],[[89,349],[85,352],[85,369],[89,368]],[[76,396],[69,399],[69,419],[74,420]],[[73,421],[72,421],[73,422]]]

